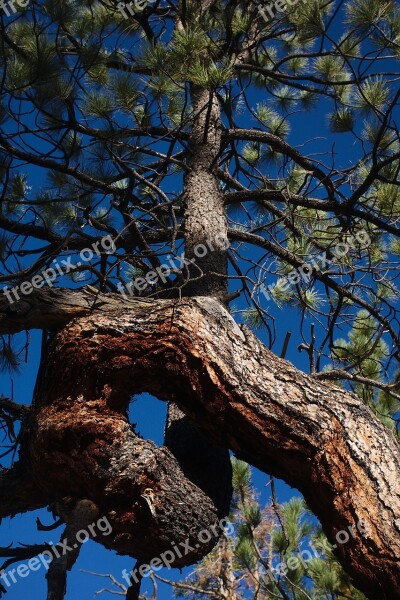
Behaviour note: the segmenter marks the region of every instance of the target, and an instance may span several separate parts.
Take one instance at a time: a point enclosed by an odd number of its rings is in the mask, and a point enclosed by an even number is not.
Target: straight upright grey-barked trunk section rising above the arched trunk
[[[225,202],[213,172],[221,150],[222,126],[217,97],[192,86],[194,122],[189,138],[189,172],[185,177],[185,254],[188,268],[185,296],[227,295],[227,221]]]

